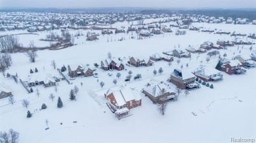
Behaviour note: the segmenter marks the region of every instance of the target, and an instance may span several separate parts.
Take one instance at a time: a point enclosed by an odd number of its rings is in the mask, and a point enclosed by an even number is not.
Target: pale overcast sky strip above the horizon
[[[256,0],[0,0],[1,8],[256,8]]]

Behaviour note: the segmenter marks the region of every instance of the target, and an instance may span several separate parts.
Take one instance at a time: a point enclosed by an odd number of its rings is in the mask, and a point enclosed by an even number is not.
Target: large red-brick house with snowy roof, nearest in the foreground
[[[108,91],[104,93],[104,97],[108,100],[110,106],[115,108],[117,117],[123,116],[123,114],[128,114],[131,108],[141,106],[142,98],[139,91],[136,89],[121,86],[116,91],[112,90],[113,89],[108,89]]]

